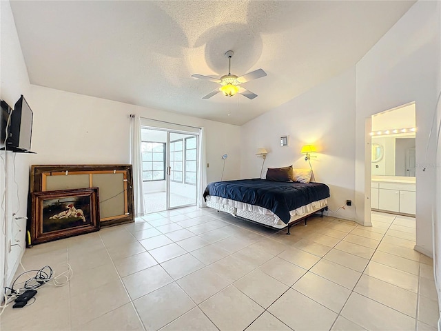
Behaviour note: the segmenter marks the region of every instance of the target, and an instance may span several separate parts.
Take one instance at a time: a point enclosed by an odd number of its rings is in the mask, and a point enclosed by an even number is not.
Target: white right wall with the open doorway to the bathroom
[[[437,98],[439,1],[418,1],[356,66],[356,214],[365,213],[365,119],[416,101],[416,248],[432,252],[435,208],[433,126]],[[427,153],[427,150],[429,152]],[[425,170],[423,171],[423,169]],[[439,204],[439,203],[438,203]]]

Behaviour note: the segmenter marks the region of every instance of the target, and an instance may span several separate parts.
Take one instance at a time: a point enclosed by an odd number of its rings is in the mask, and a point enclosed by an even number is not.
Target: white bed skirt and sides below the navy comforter
[[[289,211],[291,219],[289,223],[305,217],[305,215],[313,214],[318,210],[325,208],[328,204],[328,199],[322,199],[311,202],[307,205]],[[272,228],[282,229],[287,226],[281,221],[274,212],[267,210],[266,208],[259,207],[257,205],[250,205],[249,203],[243,203],[236,200],[225,199],[221,197],[215,197],[209,195],[207,197],[207,207],[220,210],[222,212],[228,212],[234,217],[243,217],[244,219],[250,219],[252,221],[263,223],[271,226]]]

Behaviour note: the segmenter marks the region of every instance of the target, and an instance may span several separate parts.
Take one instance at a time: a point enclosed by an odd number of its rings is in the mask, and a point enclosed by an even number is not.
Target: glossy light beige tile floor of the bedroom
[[[415,219],[372,219],[314,217],[288,236],[183,208],[36,245],[25,268],[69,262],[72,280],[6,308],[1,330],[436,330]]]

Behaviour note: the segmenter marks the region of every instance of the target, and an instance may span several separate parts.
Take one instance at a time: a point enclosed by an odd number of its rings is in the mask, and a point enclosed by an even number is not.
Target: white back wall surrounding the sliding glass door
[[[225,152],[232,167],[225,178],[238,179],[240,169],[240,128],[172,112],[129,105],[42,86],[30,86],[27,98],[34,110],[32,150],[34,164],[129,163],[130,114],[140,114],[206,128],[207,181],[222,173]],[[209,111],[209,110],[207,110]]]

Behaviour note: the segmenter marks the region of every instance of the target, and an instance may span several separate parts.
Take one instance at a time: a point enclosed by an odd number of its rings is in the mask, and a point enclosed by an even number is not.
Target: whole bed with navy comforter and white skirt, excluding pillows
[[[287,228],[289,234],[291,225],[327,208],[329,187],[323,183],[240,179],[209,183],[203,196],[209,208],[270,228]]]

